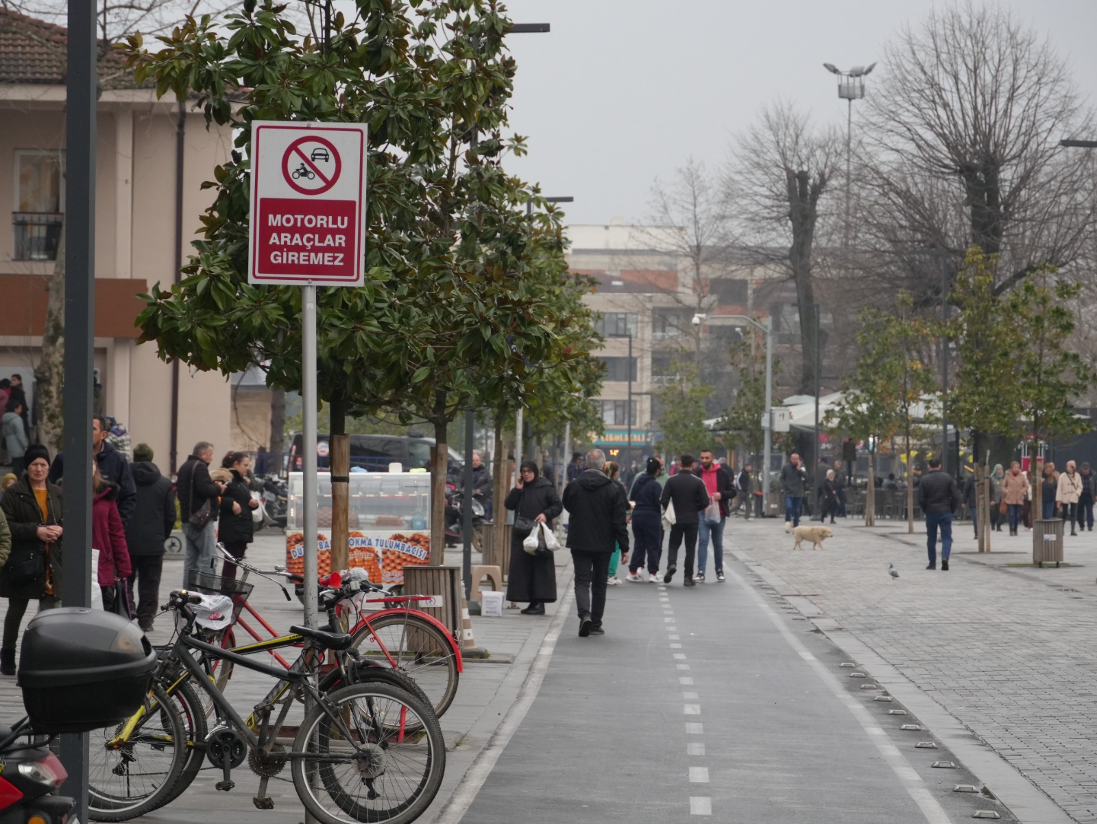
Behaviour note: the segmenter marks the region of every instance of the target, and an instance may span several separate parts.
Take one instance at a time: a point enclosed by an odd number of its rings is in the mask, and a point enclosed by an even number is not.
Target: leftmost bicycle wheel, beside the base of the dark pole
[[[127,821],[159,806],[183,771],[185,731],[178,703],[152,687],[132,733],[128,722],[88,734],[88,817]]]

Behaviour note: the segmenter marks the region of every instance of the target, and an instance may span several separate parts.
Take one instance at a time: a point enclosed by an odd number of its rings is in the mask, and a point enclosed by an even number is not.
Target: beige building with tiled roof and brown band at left
[[[46,292],[65,212],[65,45],[58,26],[0,9],[0,377],[18,372],[33,408]],[[134,443],[156,451],[160,469],[182,463],[197,440],[229,447],[229,384],[192,375],[137,346],[137,295],[177,278],[181,257],[212,200],[200,189],[227,159],[231,133],[208,129],[135,88],[118,58],[101,61],[95,167],[97,409],[114,416]],[[180,253],[181,249],[181,253]]]

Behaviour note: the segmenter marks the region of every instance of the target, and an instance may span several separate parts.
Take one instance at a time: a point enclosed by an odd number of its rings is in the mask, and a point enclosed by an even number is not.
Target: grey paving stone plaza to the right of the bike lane
[[[735,519],[724,540],[783,579],[805,614],[834,619],[839,644],[856,636],[1071,817],[1097,821],[1097,537],[1067,537],[1071,566],[1038,569],[1022,566],[1031,533],[995,532],[987,555],[958,523],[942,572],[925,568],[923,524],[859,524],[832,527],[825,551],[793,551],[768,519]]]

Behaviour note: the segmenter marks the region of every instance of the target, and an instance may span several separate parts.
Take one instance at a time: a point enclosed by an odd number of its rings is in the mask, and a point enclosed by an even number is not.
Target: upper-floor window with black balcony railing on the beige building
[[[55,260],[65,192],[57,151],[15,153],[15,260]]]

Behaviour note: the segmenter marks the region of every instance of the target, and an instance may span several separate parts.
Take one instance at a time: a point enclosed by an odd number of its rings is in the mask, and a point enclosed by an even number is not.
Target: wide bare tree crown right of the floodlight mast
[[[1059,146],[1093,117],[1047,41],[997,5],[963,4],[906,26],[884,49],[860,153],[863,246],[969,246],[997,256],[996,289],[1086,247],[1085,153]],[[880,260],[881,258],[877,258]],[[914,290],[917,292],[917,290]]]

